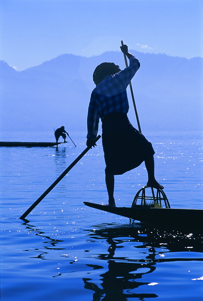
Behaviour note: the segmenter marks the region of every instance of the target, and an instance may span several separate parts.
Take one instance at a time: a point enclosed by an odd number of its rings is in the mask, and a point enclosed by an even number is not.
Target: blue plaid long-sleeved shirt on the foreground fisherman
[[[140,67],[136,57],[131,57],[129,61],[128,68],[105,77],[92,91],[87,115],[87,138],[95,140],[99,118],[102,120],[112,112],[128,113],[126,88]]]

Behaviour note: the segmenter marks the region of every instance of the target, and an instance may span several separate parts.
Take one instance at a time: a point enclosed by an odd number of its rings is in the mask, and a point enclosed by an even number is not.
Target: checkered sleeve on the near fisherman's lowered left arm
[[[87,138],[90,138],[92,140],[96,139],[98,133],[98,125],[99,115],[96,109],[95,98],[92,93],[87,114]]]

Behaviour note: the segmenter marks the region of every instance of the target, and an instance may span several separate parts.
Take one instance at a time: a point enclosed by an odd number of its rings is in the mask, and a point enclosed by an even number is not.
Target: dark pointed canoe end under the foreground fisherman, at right
[[[164,228],[202,231],[203,209],[108,207],[84,202],[86,206]]]

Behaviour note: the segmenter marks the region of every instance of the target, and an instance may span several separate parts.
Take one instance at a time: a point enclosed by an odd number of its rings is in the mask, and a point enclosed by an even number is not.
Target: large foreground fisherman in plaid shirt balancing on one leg
[[[154,176],[155,154],[152,144],[129,122],[129,103],[126,88],[140,67],[136,57],[128,52],[128,46],[120,46],[129,59],[129,67],[120,70],[114,63],[102,63],[93,73],[96,85],[92,91],[87,116],[87,146],[95,147],[99,118],[102,121],[102,145],[106,163],[105,181],[108,191],[107,206],[115,207],[114,175],[145,163],[147,186],[161,188]]]

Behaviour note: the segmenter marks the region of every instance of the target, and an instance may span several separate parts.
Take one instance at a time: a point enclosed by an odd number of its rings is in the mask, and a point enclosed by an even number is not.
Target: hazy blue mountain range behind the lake
[[[142,132],[200,129],[203,59],[131,52],[141,63],[132,87]],[[85,131],[92,73],[105,61],[125,67],[119,51],[89,58],[62,54],[23,71],[0,61],[1,129],[44,131],[64,125],[67,131]],[[129,119],[137,127],[128,95]]]

